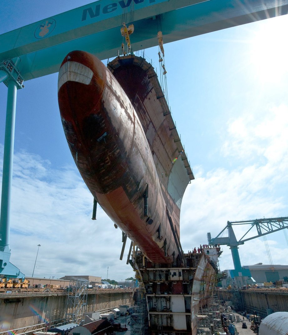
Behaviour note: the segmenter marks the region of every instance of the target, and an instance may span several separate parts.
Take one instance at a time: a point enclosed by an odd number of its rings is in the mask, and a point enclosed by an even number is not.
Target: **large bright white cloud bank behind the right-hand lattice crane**
[[[288,215],[285,200],[288,108],[281,105],[262,111],[262,114],[262,119],[257,113],[245,113],[228,121],[221,153],[223,159],[235,162],[232,169],[217,167],[204,172],[203,167],[194,168],[196,179],[187,187],[181,208],[184,250],[207,243],[207,232],[211,232],[212,238],[216,237],[227,220]],[[249,228],[246,225],[234,226],[237,240]],[[254,231],[253,235],[256,234]],[[283,256],[283,231],[269,235],[269,240],[274,264],[287,263]],[[223,249],[221,269],[233,268],[230,250],[227,247]],[[239,246],[239,253],[242,265],[269,264],[261,238]]]

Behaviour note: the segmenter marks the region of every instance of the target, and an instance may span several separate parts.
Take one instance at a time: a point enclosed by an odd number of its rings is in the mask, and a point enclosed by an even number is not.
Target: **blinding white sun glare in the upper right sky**
[[[276,83],[288,75],[288,15],[260,22],[253,32],[250,62],[262,82]]]

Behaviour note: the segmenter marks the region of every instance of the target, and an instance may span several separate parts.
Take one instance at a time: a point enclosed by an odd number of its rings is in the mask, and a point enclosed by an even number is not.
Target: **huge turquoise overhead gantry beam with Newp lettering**
[[[100,0],[1,35],[0,61],[20,57],[21,74],[29,80],[58,72],[72,50],[116,57],[122,11],[130,12],[131,3],[133,51],[158,45],[160,29],[169,43],[288,12],[288,0]]]

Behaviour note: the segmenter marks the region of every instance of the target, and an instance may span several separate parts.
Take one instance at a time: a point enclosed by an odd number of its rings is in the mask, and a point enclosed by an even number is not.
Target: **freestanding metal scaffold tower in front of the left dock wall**
[[[84,322],[87,308],[88,284],[89,281],[87,279],[71,277],[67,289],[66,323],[81,325]]]

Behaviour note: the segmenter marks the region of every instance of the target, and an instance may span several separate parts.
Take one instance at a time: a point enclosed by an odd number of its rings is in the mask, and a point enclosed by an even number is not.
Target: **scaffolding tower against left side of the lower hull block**
[[[143,291],[136,292],[134,313],[130,316],[131,335],[148,334],[147,302]]]

